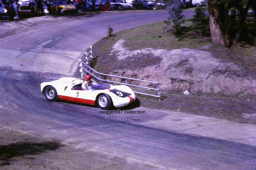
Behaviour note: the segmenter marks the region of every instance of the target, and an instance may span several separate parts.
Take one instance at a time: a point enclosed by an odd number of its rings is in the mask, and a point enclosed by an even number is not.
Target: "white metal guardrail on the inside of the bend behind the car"
[[[95,69],[93,69],[92,67],[90,67],[89,65],[89,61],[90,59],[92,59],[92,45],[90,45],[90,47],[88,47],[84,53],[84,55],[79,59],[80,61],[80,73],[81,73],[81,77],[90,74],[92,77],[94,77],[96,80],[98,81],[106,81],[106,79],[102,79],[102,76],[109,76],[109,77],[116,77],[116,78],[120,78],[122,80],[125,81],[125,83],[122,82],[117,82],[117,81],[109,81],[110,83],[116,83],[116,84],[121,84],[121,85],[127,85],[130,87],[138,87],[141,89],[147,89],[147,90],[151,90],[151,91],[157,91],[158,95],[152,95],[149,93],[142,93],[142,92],[138,92],[138,91],[134,91],[134,93],[140,94],[140,95],[148,95],[148,96],[152,96],[152,97],[157,97],[160,99],[160,86],[158,82],[154,82],[154,81],[147,81],[147,80],[141,80],[141,79],[134,79],[134,78],[130,78],[130,77],[122,77],[122,76],[118,76],[118,75],[111,75],[111,74],[104,74],[104,73],[100,73],[98,71],[96,71]],[[157,88],[152,88],[152,87],[146,87],[146,86],[140,86],[140,85],[134,85],[134,84],[130,84],[128,83],[128,81],[139,81],[139,82],[144,82],[144,83],[148,83],[149,85],[155,84]]]

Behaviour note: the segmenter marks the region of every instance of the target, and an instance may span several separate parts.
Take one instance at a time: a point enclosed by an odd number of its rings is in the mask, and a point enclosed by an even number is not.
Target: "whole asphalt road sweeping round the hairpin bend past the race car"
[[[164,112],[135,106],[126,109],[146,114],[102,115],[97,107],[46,101],[40,83],[72,75],[79,55],[106,36],[108,26],[119,31],[166,19],[164,12],[152,14],[96,16],[2,39],[0,128],[32,132],[109,158],[120,156],[138,169],[256,169],[256,146],[148,124],[166,117]]]

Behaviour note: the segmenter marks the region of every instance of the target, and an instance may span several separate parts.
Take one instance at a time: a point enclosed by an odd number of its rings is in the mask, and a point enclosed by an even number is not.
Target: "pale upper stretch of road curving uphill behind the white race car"
[[[167,12],[156,11],[111,12],[78,20],[68,17],[63,17],[62,20],[52,18],[56,23],[40,20],[36,26],[33,26],[34,18],[29,18],[24,24],[18,21],[16,30],[20,29],[19,22],[22,26],[29,24],[34,29],[31,30],[28,26],[27,29],[23,28],[24,32],[2,39],[0,53],[5,60],[0,66],[72,75],[76,71],[82,52],[107,36],[109,26],[114,28],[114,32],[118,32],[166,18]]]

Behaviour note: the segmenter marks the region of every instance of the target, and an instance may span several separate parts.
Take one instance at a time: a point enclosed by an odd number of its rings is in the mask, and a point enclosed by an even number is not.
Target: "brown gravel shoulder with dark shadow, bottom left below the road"
[[[58,140],[49,140],[21,130],[0,129],[1,170],[96,170],[134,169],[122,156],[110,157],[101,152],[82,150]],[[148,165],[142,169],[152,169]]]

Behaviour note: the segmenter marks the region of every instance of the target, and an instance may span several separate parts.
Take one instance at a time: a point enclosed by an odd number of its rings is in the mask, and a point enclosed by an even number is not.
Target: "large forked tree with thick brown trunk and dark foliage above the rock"
[[[256,3],[253,1],[255,0],[208,0],[213,45],[231,47],[242,30],[249,8],[256,12]]]

